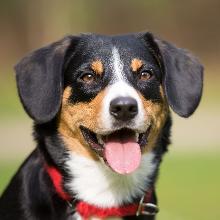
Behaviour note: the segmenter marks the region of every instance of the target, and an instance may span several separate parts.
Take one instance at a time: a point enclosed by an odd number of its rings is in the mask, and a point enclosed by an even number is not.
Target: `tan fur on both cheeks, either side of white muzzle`
[[[58,131],[69,150],[87,158],[99,160],[97,154],[84,140],[79,127],[80,125],[83,125],[95,133],[99,133],[102,130],[99,121],[99,114],[105,91],[100,92],[89,103],[77,103],[74,105],[68,102],[71,92],[74,92],[71,87],[67,87],[64,90]],[[146,100],[139,93],[144,105],[145,117],[151,121],[151,131],[148,137],[148,144],[144,148],[143,153],[150,152],[155,147],[155,142],[168,115],[169,108],[162,87],[160,87],[160,93],[162,97],[161,103],[153,103],[150,100]]]

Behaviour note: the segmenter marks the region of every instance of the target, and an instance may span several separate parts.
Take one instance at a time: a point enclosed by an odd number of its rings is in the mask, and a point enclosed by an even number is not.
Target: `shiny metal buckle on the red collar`
[[[159,208],[156,204],[150,202],[144,202],[145,196],[143,196],[139,202],[136,216],[139,215],[150,215],[154,216],[159,212]]]

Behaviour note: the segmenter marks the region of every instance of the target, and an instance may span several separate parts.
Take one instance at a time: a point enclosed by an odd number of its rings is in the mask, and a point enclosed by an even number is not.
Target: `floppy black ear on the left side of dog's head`
[[[40,48],[24,57],[16,66],[21,102],[38,123],[55,117],[63,91],[63,64],[73,37]]]

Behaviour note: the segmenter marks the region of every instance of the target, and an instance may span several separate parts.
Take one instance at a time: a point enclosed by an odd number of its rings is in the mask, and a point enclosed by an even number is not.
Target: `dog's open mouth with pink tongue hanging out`
[[[80,129],[89,146],[113,171],[129,174],[139,167],[141,150],[147,144],[150,127],[144,133],[123,128],[107,135],[96,134],[84,126]]]

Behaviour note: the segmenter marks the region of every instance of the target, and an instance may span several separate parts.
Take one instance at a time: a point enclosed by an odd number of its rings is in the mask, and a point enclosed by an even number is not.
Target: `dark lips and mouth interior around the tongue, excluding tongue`
[[[123,128],[120,130],[113,131],[108,135],[96,134],[84,126],[80,126],[80,129],[86,142],[101,157],[103,157],[105,142],[108,140],[110,136],[120,135],[122,133],[126,134],[127,132],[126,136],[129,136],[129,134],[135,135],[137,143],[140,145],[141,148],[143,148],[147,144],[147,139],[150,133],[150,126],[148,127],[147,131],[143,133],[137,133],[132,129]]]

